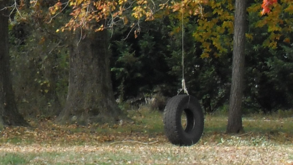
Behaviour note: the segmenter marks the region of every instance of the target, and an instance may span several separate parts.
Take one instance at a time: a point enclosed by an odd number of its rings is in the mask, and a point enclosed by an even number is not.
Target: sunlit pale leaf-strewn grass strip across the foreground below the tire
[[[286,164],[292,160],[292,149],[284,146],[226,147],[194,145],[176,147],[169,144],[101,144],[99,146],[44,147],[19,149],[3,156],[8,164]]]

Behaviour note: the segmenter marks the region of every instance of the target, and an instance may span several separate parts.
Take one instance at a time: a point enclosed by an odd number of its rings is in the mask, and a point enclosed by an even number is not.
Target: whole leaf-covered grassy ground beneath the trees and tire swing
[[[133,122],[117,125],[56,125],[30,120],[34,128],[0,132],[0,164],[292,164],[291,112],[249,115],[245,134],[224,134],[226,115],[207,115],[200,141],[191,147],[170,144],[160,112],[130,111]],[[292,115],[291,115],[292,116]]]

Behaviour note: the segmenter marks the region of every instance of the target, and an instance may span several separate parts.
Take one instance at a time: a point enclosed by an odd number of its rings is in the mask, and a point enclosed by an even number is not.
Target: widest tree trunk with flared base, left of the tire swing
[[[69,87],[63,122],[110,122],[120,109],[115,102],[110,78],[108,32],[76,34],[70,54]]]

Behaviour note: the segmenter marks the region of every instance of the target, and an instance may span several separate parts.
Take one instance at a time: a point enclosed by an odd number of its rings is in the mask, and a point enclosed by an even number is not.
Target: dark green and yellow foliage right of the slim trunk
[[[292,40],[292,32],[285,30],[288,26],[285,23],[278,35],[270,31],[270,28],[276,26],[273,22],[264,24],[263,21],[270,20],[272,16],[260,18],[255,9],[258,9],[257,4],[248,8],[248,33],[251,36],[248,38],[246,50],[245,106],[264,112],[288,109],[292,107],[292,90],[289,85],[292,81],[292,45],[288,43]],[[279,12],[277,10],[274,9],[274,12]],[[292,15],[282,12],[277,21],[291,17]],[[263,24],[260,26],[261,23]],[[271,44],[274,46],[270,46]]]

